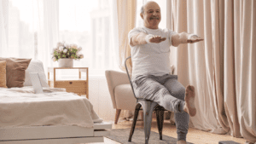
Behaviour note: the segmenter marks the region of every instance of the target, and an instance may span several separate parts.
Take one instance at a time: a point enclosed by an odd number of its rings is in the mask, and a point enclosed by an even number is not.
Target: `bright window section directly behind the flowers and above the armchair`
[[[75,66],[89,66],[91,72],[116,69],[118,61],[111,59],[110,2],[107,0],[61,0],[60,40],[77,43],[83,48],[84,59]],[[89,4],[90,3],[90,4]],[[117,49],[116,49],[117,50]]]

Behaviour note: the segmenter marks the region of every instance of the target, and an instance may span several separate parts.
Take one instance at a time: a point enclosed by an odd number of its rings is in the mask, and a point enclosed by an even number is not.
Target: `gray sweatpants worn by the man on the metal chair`
[[[175,112],[177,140],[186,141],[189,130],[189,114],[183,111],[185,88],[177,81],[177,75],[139,75],[131,78],[137,98],[157,102],[166,110]]]

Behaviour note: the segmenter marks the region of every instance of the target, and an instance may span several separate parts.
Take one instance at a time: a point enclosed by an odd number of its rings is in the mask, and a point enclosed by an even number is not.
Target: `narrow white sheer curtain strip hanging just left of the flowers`
[[[44,71],[53,66],[52,49],[59,41],[59,0],[38,0],[38,57],[44,63]]]

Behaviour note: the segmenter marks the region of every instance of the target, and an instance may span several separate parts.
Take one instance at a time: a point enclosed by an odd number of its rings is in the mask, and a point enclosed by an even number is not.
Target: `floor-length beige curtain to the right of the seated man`
[[[196,89],[191,122],[256,142],[256,1],[172,0],[168,8],[167,27],[205,39],[171,51],[178,81]]]

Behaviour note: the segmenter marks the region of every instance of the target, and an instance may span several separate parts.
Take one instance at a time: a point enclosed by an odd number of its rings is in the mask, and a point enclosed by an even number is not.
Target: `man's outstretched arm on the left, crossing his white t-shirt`
[[[166,40],[166,37],[160,37],[160,36],[140,32],[137,35],[131,37],[130,44],[131,46],[136,46],[136,45],[146,44],[146,43],[160,43],[165,40]]]

